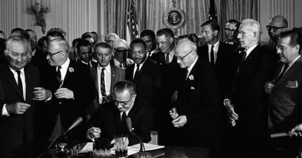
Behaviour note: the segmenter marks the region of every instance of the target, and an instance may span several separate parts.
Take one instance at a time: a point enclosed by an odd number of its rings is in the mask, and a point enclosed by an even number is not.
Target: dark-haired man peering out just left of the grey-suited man
[[[89,67],[97,66],[97,63],[92,61],[92,46],[87,40],[80,40],[77,44],[77,53],[80,57],[78,62],[82,62],[83,64],[88,65]]]

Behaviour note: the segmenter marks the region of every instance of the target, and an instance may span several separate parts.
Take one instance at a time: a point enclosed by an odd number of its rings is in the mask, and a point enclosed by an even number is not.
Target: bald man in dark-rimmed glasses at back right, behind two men
[[[279,56],[277,55],[277,42],[281,32],[287,30],[287,20],[282,16],[273,17],[266,26],[269,35],[269,42],[261,49],[270,57],[274,70],[277,68]]]

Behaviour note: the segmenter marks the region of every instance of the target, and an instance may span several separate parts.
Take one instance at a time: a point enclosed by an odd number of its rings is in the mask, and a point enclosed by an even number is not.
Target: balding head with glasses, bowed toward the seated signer
[[[177,58],[177,63],[181,68],[190,67],[197,59],[196,45],[190,40],[180,41],[175,47],[174,56]]]

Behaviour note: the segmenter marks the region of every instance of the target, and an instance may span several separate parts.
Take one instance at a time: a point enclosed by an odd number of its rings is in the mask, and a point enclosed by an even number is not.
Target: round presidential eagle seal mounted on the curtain
[[[180,28],[185,22],[185,14],[179,8],[171,8],[164,15],[165,24],[171,29]]]

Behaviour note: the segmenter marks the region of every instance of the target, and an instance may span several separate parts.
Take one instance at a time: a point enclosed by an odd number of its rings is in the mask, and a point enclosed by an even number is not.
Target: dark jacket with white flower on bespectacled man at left
[[[83,63],[70,60],[62,88],[71,90],[74,99],[57,99],[55,97],[54,92],[59,88],[56,85],[56,68],[51,67],[47,71],[48,76],[44,78],[46,84],[43,86],[51,91],[52,98],[47,106],[38,109],[38,113],[43,112],[43,115],[39,116],[39,127],[40,130],[43,130],[43,137],[40,139],[50,137],[58,114],[60,114],[63,129],[67,129],[78,117],[83,117],[84,121],[68,133],[68,136],[72,139],[81,139],[85,136],[85,108],[96,97],[95,85],[89,67]]]

